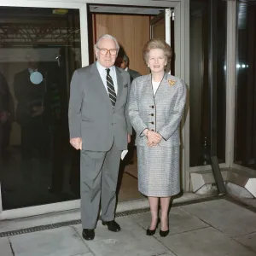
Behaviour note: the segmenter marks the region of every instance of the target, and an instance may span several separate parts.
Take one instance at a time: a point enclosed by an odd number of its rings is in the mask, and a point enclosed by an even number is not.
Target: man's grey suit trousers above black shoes
[[[81,150],[80,192],[83,229],[95,229],[101,201],[102,220],[114,219],[121,150],[113,140],[108,152]]]

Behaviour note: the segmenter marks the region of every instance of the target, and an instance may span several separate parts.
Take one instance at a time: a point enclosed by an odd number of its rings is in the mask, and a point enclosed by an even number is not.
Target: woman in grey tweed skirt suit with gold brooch
[[[165,41],[148,41],[143,48],[143,58],[151,74],[133,80],[128,105],[131,125],[137,132],[138,189],[148,196],[150,206],[151,224],[147,235],[154,235],[160,221],[160,236],[167,236],[171,196],[180,191],[179,124],[186,101],[186,85],[166,73],[172,49]]]

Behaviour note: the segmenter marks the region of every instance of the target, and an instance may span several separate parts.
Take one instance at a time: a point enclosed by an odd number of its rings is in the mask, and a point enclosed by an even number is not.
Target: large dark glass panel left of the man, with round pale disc
[[[79,10],[0,8],[3,209],[79,198],[67,105],[81,66]]]

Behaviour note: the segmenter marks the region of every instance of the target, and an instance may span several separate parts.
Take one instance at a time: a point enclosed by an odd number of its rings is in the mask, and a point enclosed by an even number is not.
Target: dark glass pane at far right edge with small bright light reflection
[[[235,162],[256,170],[256,6],[237,6]]]

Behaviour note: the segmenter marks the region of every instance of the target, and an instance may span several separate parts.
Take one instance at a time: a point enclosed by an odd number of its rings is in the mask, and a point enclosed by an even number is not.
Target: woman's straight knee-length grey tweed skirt
[[[179,146],[137,146],[138,189],[143,195],[167,197],[180,191]]]

